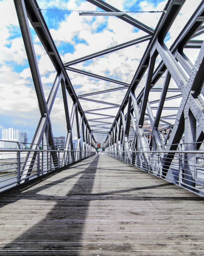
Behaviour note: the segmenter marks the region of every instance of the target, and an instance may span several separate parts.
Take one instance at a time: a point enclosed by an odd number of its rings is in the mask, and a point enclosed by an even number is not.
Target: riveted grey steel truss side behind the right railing
[[[126,96],[124,97],[122,105],[119,108],[109,135],[113,136],[114,130],[116,130],[118,123],[121,123],[122,119],[122,124],[125,126],[125,129],[122,127],[122,138],[121,132],[119,132],[120,135],[117,136],[115,140],[120,146],[118,146],[118,148],[113,147],[113,142],[109,140],[109,136],[107,136],[105,143],[106,150],[114,152],[113,154],[117,154],[119,158],[122,157],[121,148],[123,148],[124,152],[128,149],[129,153],[123,156],[123,159],[133,163],[136,163],[137,160],[132,159],[131,150],[136,150],[136,152],[139,150],[141,153],[138,151],[138,154],[141,155],[138,156],[142,156],[142,158],[138,159],[138,161],[140,164],[141,161],[144,161],[144,168],[147,169],[148,172],[154,168],[152,157],[157,157],[157,154],[154,152],[155,149],[158,153],[159,150],[162,150],[159,154],[160,177],[164,179],[172,177],[172,182],[176,183],[177,180],[179,180],[179,184],[182,184],[183,187],[189,186],[188,189],[195,191],[196,179],[189,179],[189,175],[192,177],[195,175],[195,166],[192,167],[193,163],[197,161],[195,154],[189,155],[185,153],[182,156],[183,167],[180,169],[179,173],[174,175],[175,168],[173,168],[172,165],[174,165],[176,151],[172,150],[179,150],[182,147],[183,139],[187,143],[185,144],[186,146],[184,146],[186,151],[189,150],[188,152],[190,152],[192,149],[198,150],[202,146],[204,139],[204,114],[202,111],[204,107],[204,43],[201,40],[191,40],[198,31],[203,32],[201,26],[204,16],[204,1],[200,3],[170,49],[168,49],[164,43],[165,35],[184,2],[185,1],[168,1],[165,7],[167,13],[162,15],[128,88]],[[183,53],[184,48],[200,48],[200,53],[195,64],[191,63]],[[162,62],[153,73],[158,54],[162,58]],[[180,66],[182,66],[182,68]],[[138,87],[147,68],[148,72],[145,87],[136,98],[134,91]],[[163,88],[152,88],[166,71],[167,74],[164,79]],[[178,89],[168,88],[170,78],[174,80]],[[148,101],[149,92],[151,92],[151,90],[152,92],[161,91],[159,100]],[[177,91],[180,92],[179,95],[167,97],[168,92]],[[166,107],[164,105],[165,102],[176,98],[181,98],[179,107]],[[130,106],[131,101],[132,106]],[[151,107],[151,105],[155,103],[159,103],[158,107]],[[125,108],[127,109],[126,114],[124,114]],[[155,117],[152,110],[157,110]],[[177,114],[173,115],[171,112],[169,115],[164,116],[164,119],[175,120],[175,124],[172,125],[162,119],[163,110],[177,110]],[[196,124],[199,126],[196,127]],[[159,127],[161,125],[163,126],[162,129]],[[130,130],[132,132],[131,135],[129,134]],[[185,138],[182,139],[184,133]],[[198,135],[196,135],[197,133]],[[127,141],[128,135],[130,136],[130,140]],[[192,144],[195,142],[198,142],[198,144]],[[147,154],[148,151],[151,152],[152,155]]]

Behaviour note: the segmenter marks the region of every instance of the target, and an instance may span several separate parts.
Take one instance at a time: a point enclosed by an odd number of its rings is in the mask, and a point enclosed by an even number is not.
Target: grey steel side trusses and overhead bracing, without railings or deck
[[[102,0],[87,1],[105,11],[119,11]],[[41,118],[30,149],[36,149],[37,145],[41,142],[43,145],[55,148],[50,112],[60,83],[67,123],[66,150],[73,147],[72,126],[74,116],[76,116],[77,123],[78,150],[94,150],[97,141],[105,141],[106,151],[163,151],[161,163],[162,166],[165,166],[165,169],[167,169],[167,172],[162,174],[163,178],[167,175],[168,168],[174,158],[174,154],[168,153],[170,150],[177,150],[179,144],[180,147],[184,146],[185,150],[198,150],[202,147],[201,142],[204,139],[204,43],[202,40],[194,40],[194,38],[204,33],[204,1],[200,3],[170,48],[165,45],[164,39],[185,3],[185,0],[169,0],[165,5],[164,13],[161,15],[155,30],[131,16],[118,16],[117,18],[143,30],[147,35],[64,64],[62,63],[37,1],[14,0],[14,3],[41,113]],[[45,100],[42,89],[28,20],[33,26],[57,71],[57,76],[47,101]],[[73,64],[112,53],[147,40],[149,40],[148,46],[130,84],[70,67]],[[184,54],[183,50],[185,48],[200,49],[195,64]],[[160,56],[162,61],[155,68],[158,56]],[[77,96],[66,70],[119,84],[121,87]],[[164,74],[165,79],[163,87],[155,87],[155,84]],[[142,91],[136,95],[136,89],[145,76],[145,86]],[[177,88],[169,88],[170,79],[173,79]],[[98,94],[124,89],[127,90],[127,93],[121,105],[87,98],[88,96],[97,97]],[[73,101],[71,117],[68,111],[66,91]],[[160,92],[160,99],[149,101],[150,92]],[[167,97],[168,92],[177,94]],[[181,98],[179,107],[165,107],[165,102],[176,98]],[[93,101],[109,106],[83,111],[79,100]],[[158,106],[152,106],[156,103],[158,103]],[[113,108],[119,108],[116,116],[98,113],[100,110],[111,110]],[[156,115],[153,114],[153,110],[157,111]],[[162,116],[163,110],[169,111],[170,114]],[[177,111],[177,113],[172,114],[172,111]],[[86,113],[94,117],[96,115],[101,116],[101,118],[93,117],[87,120]],[[103,121],[105,119],[114,119],[114,121]],[[174,122],[168,122],[169,120],[174,120]],[[89,125],[88,121],[94,121],[96,124]],[[164,130],[167,131],[165,136],[163,134]],[[182,136],[184,134],[185,144],[182,145]],[[83,136],[82,148],[80,145],[81,136]],[[30,154],[31,153],[29,153],[27,157],[31,157]],[[35,159],[34,154],[32,157]],[[53,153],[52,157],[53,159],[57,158],[55,153]],[[148,165],[151,166],[148,156],[144,154],[144,157]],[[186,156],[186,160],[185,172],[188,174],[192,171],[191,166],[194,157]],[[188,183],[189,182],[190,181],[188,181]]]

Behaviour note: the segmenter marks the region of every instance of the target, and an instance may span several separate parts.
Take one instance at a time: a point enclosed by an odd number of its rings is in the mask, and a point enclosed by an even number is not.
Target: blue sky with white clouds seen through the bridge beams
[[[163,10],[167,0],[106,0],[106,2],[121,11],[151,11]],[[100,10],[86,0],[39,0],[38,3],[41,9]],[[168,47],[174,42],[174,39],[182,30],[185,23],[187,23],[193,11],[200,3],[200,0],[194,0],[193,3],[192,5],[192,0],[186,0],[165,39],[165,43]],[[46,10],[42,10],[42,14],[44,15],[64,63],[147,35],[145,32],[134,28],[117,17],[79,16],[77,12]],[[130,15],[154,29],[161,14],[132,13]],[[39,121],[40,112],[12,0],[0,0],[0,21],[0,129],[15,127],[20,131],[27,132],[30,142]],[[44,94],[47,99],[56,72],[32,27],[31,34]],[[114,53],[106,54],[102,57],[92,59],[91,61],[75,64],[71,67],[130,83],[147,44],[148,41]],[[192,62],[195,62],[198,50],[191,50],[187,54]],[[159,63],[159,61],[160,58],[158,57],[157,63]],[[68,75],[77,95],[120,87],[114,83],[94,79],[70,71],[68,71]],[[160,78],[160,81],[156,85],[157,87],[162,87],[162,79],[164,78]],[[144,82],[145,76],[136,90],[136,94],[141,91]],[[175,87],[173,81],[170,86],[172,88]],[[89,96],[88,98],[121,104],[126,91],[127,89],[103,95]],[[174,94],[177,93],[171,93],[167,95],[167,97]],[[159,97],[159,93],[151,93],[149,100],[156,100],[159,99]],[[71,111],[72,102],[69,97],[68,100]],[[80,103],[83,110],[109,106],[84,100],[80,100]],[[172,104],[179,106],[180,102],[179,99],[177,99],[174,102],[170,103],[169,101],[169,103],[167,102],[165,104],[165,106],[168,106],[168,104],[171,106]],[[114,108],[103,112],[98,111],[98,113],[115,115],[117,111],[118,108]],[[166,113],[163,113],[163,115],[165,114]],[[93,117],[93,115],[87,115],[87,119]],[[95,117],[99,118],[100,116]],[[63,110],[60,88],[50,118],[53,135],[66,136],[65,112]],[[107,119],[104,121],[112,122],[113,120],[114,119]],[[93,123],[90,122],[90,124]],[[73,137],[76,137],[76,129],[73,129]]]

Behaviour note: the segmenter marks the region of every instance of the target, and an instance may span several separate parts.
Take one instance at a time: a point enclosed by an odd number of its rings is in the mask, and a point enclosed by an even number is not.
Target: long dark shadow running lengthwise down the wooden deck
[[[57,202],[55,207],[47,213],[46,218],[2,248],[0,254],[67,255],[66,253],[70,251],[69,255],[78,255],[82,246],[82,234],[90,202],[87,198],[92,192],[98,160],[99,155],[93,158],[88,168],[71,175],[76,177],[81,174],[81,177],[67,196]],[[77,193],[81,193],[82,197],[76,197]],[[40,194],[35,196],[41,197]],[[26,195],[25,198],[27,198]]]

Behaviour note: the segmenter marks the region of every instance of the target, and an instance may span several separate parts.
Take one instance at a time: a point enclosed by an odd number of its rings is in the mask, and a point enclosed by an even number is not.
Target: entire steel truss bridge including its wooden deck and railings
[[[86,1],[120,11],[102,0]],[[40,120],[29,149],[19,143],[0,149],[2,256],[204,254],[204,0],[170,48],[165,44],[184,3],[168,0],[154,30],[127,14],[118,16],[147,35],[63,63],[37,1],[14,0]],[[57,72],[47,100],[30,24]],[[71,67],[145,41],[130,84]],[[195,63],[189,49],[199,51]],[[119,87],[76,95],[67,71]],[[60,86],[67,125],[63,150],[55,146],[50,119]],[[116,90],[124,92],[121,105],[97,100]],[[150,100],[154,93],[159,100]],[[83,110],[82,100],[108,106]],[[103,154],[96,154],[97,142],[105,143]]]

